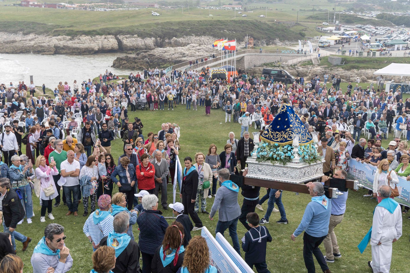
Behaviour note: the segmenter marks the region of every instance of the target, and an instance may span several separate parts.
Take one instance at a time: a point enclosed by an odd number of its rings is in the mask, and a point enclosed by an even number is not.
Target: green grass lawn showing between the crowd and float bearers
[[[240,135],[240,126],[237,123],[225,123],[225,114],[220,110],[211,111],[211,116],[205,116],[204,107],[198,107],[198,111],[186,110],[185,106],[177,106],[174,111],[137,111],[128,112],[130,120],[134,117],[139,117],[144,124],[144,135],[148,132],[157,132],[160,129],[162,122],[176,122],[181,128],[181,160],[185,156],[194,157],[196,152],[207,153],[209,145],[215,143],[218,147],[218,152],[221,152],[223,145],[228,139],[230,131],[235,132],[237,138]],[[253,127],[250,131],[254,131]],[[390,138],[392,135],[390,134]],[[383,146],[387,146],[389,140],[383,141]],[[112,153],[114,158],[118,158],[123,151],[123,143],[121,140],[115,140],[112,144]],[[115,160],[116,161],[116,160]],[[114,192],[117,188],[114,189]],[[333,264],[329,264],[332,272],[346,272],[346,273],[362,273],[370,272],[367,267],[367,261],[371,259],[371,251],[368,248],[364,254],[360,254],[356,248],[362,237],[371,226],[372,212],[376,205],[375,200],[362,197],[367,190],[359,190],[359,192],[349,193],[348,205],[343,222],[337,226],[335,232],[339,239],[340,251],[343,255],[342,259],[337,260]],[[168,201],[172,202],[172,187],[168,187]],[[266,193],[266,190],[261,190],[261,196]],[[24,235],[32,237],[32,244],[25,252],[21,252],[21,243],[17,242],[18,255],[23,258],[25,264],[24,272],[32,272],[30,257],[33,249],[39,239],[43,236],[43,230],[48,223],[56,222],[62,224],[66,230],[67,236],[66,245],[71,250],[71,255],[74,259],[74,265],[70,272],[84,273],[91,269],[91,254],[92,250],[90,244],[82,232],[85,217],[82,217],[83,205],[79,206],[79,217],[66,217],[67,207],[60,205],[58,208],[53,208],[54,221],[46,220],[46,223],[40,223],[40,206],[39,200],[34,196],[34,212],[33,223],[28,225],[27,222],[19,225],[17,231]],[[210,211],[214,198],[207,199],[207,210]],[[239,196],[239,204],[242,204],[243,198]],[[302,250],[303,239],[299,236],[296,242],[290,239],[290,235],[301,221],[306,204],[310,201],[307,194],[295,195],[293,192],[283,193],[283,203],[289,219],[288,225],[278,225],[275,223],[280,216],[279,213],[273,212],[270,218],[271,223],[266,227],[269,229],[273,237],[273,241],[268,244],[267,250],[267,264],[271,272],[276,273],[293,273],[305,272],[305,265],[303,262]],[[178,201],[178,198],[177,198]],[[266,202],[262,205],[266,209]],[[257,210],[257,213],[262,218],[264,212]],[[164,216],[172,216],[172,212],[167,210]],[[217,216],[215,221],[210,221],[207,215],[200,214],[200,218],[204,225],[214,233],[216,227]],[[171,221],[169,221],[171,223]],[[403,217],[403,237],[394,244],[393,259],[391,272],[408,272],[408,234],[410,233],[410,221]],[[134,235],[138,238],[138,229],[134,227]],[[245,228],[238,224],[238,236],[241,238],[246,232]],[[200,232],[192,232],[192,235],[199,235]],[[228,232],[225,232],[228,241]],[[322,250],[323,246],[321,247]],[[243,252],[242,252],[243,255]],[[243,256],[242,256],[243,257]],[[319,265],[316,264],[317,268]],[[318,269],[320,271],[320,269]],[[318,271],[318,272],[319,272]],[[256,272],[256,271],[255,271]]]

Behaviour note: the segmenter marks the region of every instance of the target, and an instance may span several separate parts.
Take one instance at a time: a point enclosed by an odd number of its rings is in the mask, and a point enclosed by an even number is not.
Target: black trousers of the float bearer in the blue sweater
[[[323,257],[323,253],[319,248],[325,238],[326,235],[322,237],[313,237],[306,232],[303,233],[303,259],[305,260],[307,273],[316,272],[312,254],[316,257],[322,271],[329,269],[325,257]]]

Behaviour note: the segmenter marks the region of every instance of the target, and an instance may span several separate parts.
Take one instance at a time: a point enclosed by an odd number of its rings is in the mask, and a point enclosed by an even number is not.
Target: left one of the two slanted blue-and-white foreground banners
[[[201,236],[207,241],[210,255],[211,264],[218,269],[218,273],[239,273],[242,272],[231,260],[228,254],[219,245],[216,239],[212,236],[211,232],[206,227],[201,230]],[[246,271],[248,272],[248,271]],[[253,272],[253,271],[251,271]]]

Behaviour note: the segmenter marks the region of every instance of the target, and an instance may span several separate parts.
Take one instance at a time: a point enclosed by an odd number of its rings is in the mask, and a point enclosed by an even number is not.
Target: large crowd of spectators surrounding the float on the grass
[[[268,189],[259,199],[260,187],[244,185],[240,206],[239,187],[230,180],[230,175],[246,175],[246,160],[254,148],[249,128],[253,123],[259,129],[268,126],[285,94],[306,129],[320,133],[318,152],[325,160],[326,177],[346,179],[350,158],[374,165],[379,171],[374,189],[366,196],[377,198],[379,203],[384,200],[380,188],[398,183],[397,175],[410,180],[408,145],[407,141],[400,140],[406,133],[410,138],[407,116],[410,102],[406,99],[403,103],[399,90],[393,93],[373,87],[353,87],[349,83],[343,92],[340,77],[335,74],[325,74],[323,83],[319,76],[306,82],[303,77],[296,77],[290,84],[246,73],[231,76],[227,82],[210,79],[205,67],[200,71],[172,70],[170,76],[164,70],[155,69],[131,73],[128,80],[116,82],[113,78],[114,75],[106,71],[100,75],[99,82],[89,79],[82,84],[74,82],[72,86],[60,82],[54,98],[48,99],[34,97],[35,92],[24,82],[0,87],[0,104],[4,106],[0,111],[4,128],[0,134],[4,156],[0,162],[0,198],[3,227],[9,234],[0,234],[0,244],[7,245],[2,254],[7,257],[5,263],[18,263],[18,257],[13,256],[16,239],[22,242],[22,251],[32,241],[16,229],[24,220],[28,224],[34,220],[34,188],[41,204],[41,222],[49,221],[46,217],[52,222],[52,209],[61,203],[67,206],[67,217],[77,217],[82,203],[82,215],[87,217],[83,232],[93,250],[92,272],[138,272],[141,255],[143,273],[213,273],[216,268],[210,265],[206,241],[200,236],[191,238],[191,231],[203,227],[199,213],[213,220],[217,211],[215,233],[223,234],[228,229],[235,251],[239,255],[240,248],[245,251],[245,262],[255,266],[258,272],[269,272],[266,243],[272,238],[266,224],[272,212],[280,212],[276,223],[288,223],[282,190]],[[221,109],[225,112],[225,122],[231,122],[233,115],[233,121],[241,126],[241,133],[237,139],[235,133],[230,132],[221,152],[215,144],[210,144],[206,155],[198,152],[194,160],[185,157],[181,203],[168,204],[167,184],[174,179],[181,129],[177,123],[163,123],[161,130],[149,132],[145,139],[141,119],[135,117],[134,122],[130,122],[128,110],[146,107],[154,112],[172,111],[182,104],[187,110],[192,106],[194,111],[204,106],[207,116],[212,108]],[[24,126],[21,121],[25,122]],[[381,140],[387,138],[388,133],[394,133],[396,138],[385,150]],[[368,134],[369,140],[360,138],[362,134]],[[112,142],[119,142],[117,138],[123,141],[124,150],[118,159],[111,153]],[[118,192],[113,194],[115,186]],[[314,272],[313,253],[322,271],[330,272],[327,263],[342,257],[334,228],[343,219],[348,194],[346,191],[344,197],[326,201],[329,206],[319,205],[313,199],[323,200],[323,186],[321,183],[307,186],[312,202],[292,239],[305,231],[303,256],[307,271]],[[171,208],[177,216],[171,225],[158,208],[159,192],[162,209]],[[207,199],[212,197],[214,202],[209,209]],[[266,214],[259,219],[255,208],[263,210],[266,200]],[[409,208],[402,209],[405,214]],[[248,230],[241,241],[237,234],[238,220]],[[312,223],[315,224],[311,226]],[[139,230],[138,242],[132,228],[135,224]],[[401,235],[401,223],[400,232],[398,228],[396,239]],[[34,272],[66,272],[71,268],[73,258],[64,244],[65,238],[64,227],[57,223],[47,225],[44,237],[34,248]],[[322,241],[326,255],[319,259],[318,246]],[[376,259],[375,256],[369,263],[373,269],[380,266]],[[383,259],[386,264],[388,257]]]

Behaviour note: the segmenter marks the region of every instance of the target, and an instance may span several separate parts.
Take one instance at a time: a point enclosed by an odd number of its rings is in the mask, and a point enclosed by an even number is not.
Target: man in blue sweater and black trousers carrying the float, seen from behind
[[[319,262],[323,273],[330,273],[319,245],[328,235],[332,205],[325,196],[322,183],[314,182],[310,184],[309,192],[310,196],[312,196],[312,201],[307,204],[301,223],[290,237],[295,241],[295,238],[302,231],[305,231],[303,234],[303,259],[305,260],[307,273],[316,272],[312,254],[314,254],[317,262]]]

